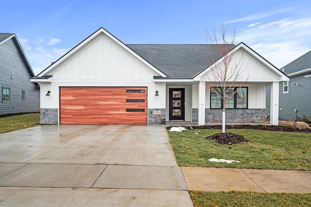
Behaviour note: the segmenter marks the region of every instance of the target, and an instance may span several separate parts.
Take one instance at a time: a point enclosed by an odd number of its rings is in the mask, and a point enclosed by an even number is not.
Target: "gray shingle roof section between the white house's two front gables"
[[[220,58],[213,45],[127,45],[155,68],[174,79],[189,79],[207,68],[207,47]]]

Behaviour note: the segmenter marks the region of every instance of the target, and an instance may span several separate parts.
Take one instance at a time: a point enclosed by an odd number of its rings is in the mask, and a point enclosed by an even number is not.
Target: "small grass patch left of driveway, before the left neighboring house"
[[[23,114],[0,118],[0,133],[24,129],[40,124],[40,114]]]

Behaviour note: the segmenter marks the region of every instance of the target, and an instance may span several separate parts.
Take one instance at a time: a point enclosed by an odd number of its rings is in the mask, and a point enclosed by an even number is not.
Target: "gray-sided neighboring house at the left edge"
[[[0,116],[39,112],[40,88],[17,36],[0,33]]]

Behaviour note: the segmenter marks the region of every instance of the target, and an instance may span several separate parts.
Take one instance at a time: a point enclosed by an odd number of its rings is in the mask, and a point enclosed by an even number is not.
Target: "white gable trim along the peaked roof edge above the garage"
[[[139,56],[136,52],[134,52],[133,50],[131,50],[129,47],[127,47],[124,43],[122,43],[118,38],[116,38],[115,36],[111,35],[108,31],[106,31],[104,28],[100,28],[99,30],[97,30],[95,33],[93,33],[92,35],[88,36],[85,40],[83,40],[80,44],[78,44],[76,47],[74,47],[72,50],[70,50],[69,52],[67,52],[65,55],[63,55],[62,57],[60,57],[57,61],[55,61],[54,63],[52,63],[51,66],[49,66],[48,68],[44,69],[42,72],[40,72],[37,76],[41,77],[47,74],[50,74],[52,72],[53,69],[57,68],[58,66],[60,66],[61,64],[63,64],[67,59],[69,59],[69,57],[71,57],[74,53],[80,51],[80,49],[82,49],[83,47],[85,47],[87,44],[89,44],[92,40],[94,40],[95,38],[97,38],[99,35],[106,35],[108,36],[110,39],[112,39],[112,41],[114,41],[115,43],[117,43],[117,45],[121,46],[122,49],[124,49],[126,52],[129,52],[130,54],[132,54],[133,56],[135,56],[136,58],[138,58],[141,62],[143,62],[145,65],[147,65],[150,69],[154,70],[155,73],[159,74],[162,77],[167,77],[167,75],[165,73],[163,73],[162,71],[158,70],[157,68],[155,68],[153,65],[151,65],[149,62],[147,62],[145,59],[143,59],[141,56]]]

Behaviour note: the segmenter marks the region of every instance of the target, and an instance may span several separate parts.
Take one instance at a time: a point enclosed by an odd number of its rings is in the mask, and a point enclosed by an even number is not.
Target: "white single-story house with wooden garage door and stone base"
[[[277,124],[279,82],[289,78],[245,44],[233,50],[249,77],[243,104],[235,97],[226,121],[260,122],[270,84]],[[31,79],[41,86],[41,124],[220,121],[219,97],[205,86],[206,53],[207,45],[125,45],[100,28]]]

